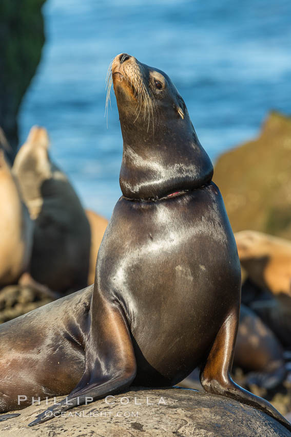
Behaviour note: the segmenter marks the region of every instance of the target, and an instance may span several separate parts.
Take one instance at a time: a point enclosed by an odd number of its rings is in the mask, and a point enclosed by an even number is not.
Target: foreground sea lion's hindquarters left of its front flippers
[[[84,372],[92,291],[87,287],[0,325],[1,411],[75,387]],[[26,395],[26,402],[18,404],[18,395]]]

